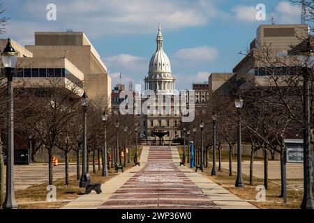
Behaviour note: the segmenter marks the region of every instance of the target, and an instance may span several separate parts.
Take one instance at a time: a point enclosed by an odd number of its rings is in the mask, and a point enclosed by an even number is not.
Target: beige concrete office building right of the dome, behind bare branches
[[[288,53],[292,47],[299,45],[308,36],[307,24],[259,26],[244,59],[233,68],[231,73],[213,73],[209,76],[209,86],[213,91],[228,93],[233,87],[250,89],[252,86],[269,85],[269,73],[283,73],[281,70],[283,64],[287,65],[287,73],[291,74],[297,61]],[[265,60],[266,56],[270,61]],[[281,59],[281,63],[272,63],[271,58]]]

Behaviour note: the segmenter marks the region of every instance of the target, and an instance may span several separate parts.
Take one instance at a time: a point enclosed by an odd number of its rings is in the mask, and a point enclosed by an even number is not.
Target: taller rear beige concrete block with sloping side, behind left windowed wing
[[[111,78],[100,55],[82,32],[36,32],[35,45],[25,46],[41,61],[59,59],[67,67],[80,70],[89,98],[105,98],[110,102]],[[73,68],[73,69],[75,69]],[[70,70],[68,70],[70,73]]]

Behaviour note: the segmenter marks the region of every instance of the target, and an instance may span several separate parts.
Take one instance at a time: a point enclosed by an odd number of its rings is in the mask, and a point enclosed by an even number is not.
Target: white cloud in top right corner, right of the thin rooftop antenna
[[[301,22],[301,7],[281,1],[276,6],[275,20],[278,24],[299,24]]]

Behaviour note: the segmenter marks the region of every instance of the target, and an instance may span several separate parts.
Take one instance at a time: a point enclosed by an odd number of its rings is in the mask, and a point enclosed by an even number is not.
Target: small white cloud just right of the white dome
[[[188,62],[189,64],[215,61],[218,59],[218,56],[218,50],[209,46],[180,49],[174,53],[175,60],[184,61],[184,63]]]

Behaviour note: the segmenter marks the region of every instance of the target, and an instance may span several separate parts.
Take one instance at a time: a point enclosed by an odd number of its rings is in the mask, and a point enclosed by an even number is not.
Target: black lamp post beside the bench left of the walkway
[[[89,106],[89,97],[84,91],[81,98],[81,105],[83,109],[83,148],[82,148],[82,176],[80,179],[80,187],[85,187],[86,183],[84,175],[87,174],[87,108]]]

